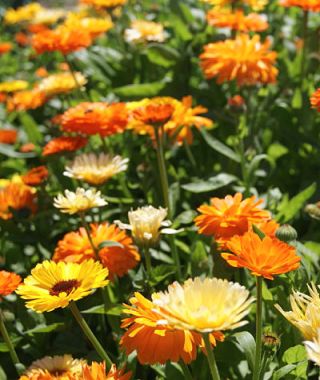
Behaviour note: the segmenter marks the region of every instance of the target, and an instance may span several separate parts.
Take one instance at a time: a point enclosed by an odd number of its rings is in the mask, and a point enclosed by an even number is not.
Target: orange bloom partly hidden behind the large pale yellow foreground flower
[[[123,319],[121,325],[128,330],[120,340],[127,355],[136,351],[141,364],[164,364],[169,360],[190,363],[195,360],[197,347],[203,346],[199,333],[163,324],[158,307],[140,293],[135,293],[130,303],[132,306],[125,305],[123,311],[130,317]],[[223,339],[224,335],[220,332],[210,335],[214,346],[216,340]]]

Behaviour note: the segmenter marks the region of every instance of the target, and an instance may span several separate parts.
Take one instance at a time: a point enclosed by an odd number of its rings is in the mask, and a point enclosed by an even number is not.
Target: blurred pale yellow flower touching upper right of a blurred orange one
[[[47,97],[67,94],[87,83],[86,78],[81,73],[76,72],[74,75],[75,77],[68,72],[49,75],[39,82],[37,88],[44,92]]]

